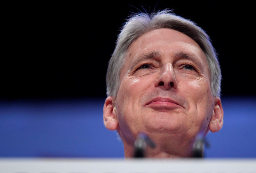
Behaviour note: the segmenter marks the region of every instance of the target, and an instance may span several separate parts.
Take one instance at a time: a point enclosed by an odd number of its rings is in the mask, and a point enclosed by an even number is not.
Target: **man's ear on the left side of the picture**
[[[103,121],[104,125],[108,130],[116,130],[118,120],[116,116],[116,109],[114,108],[113,97],[109,96],[106,98],[103,106]]]

